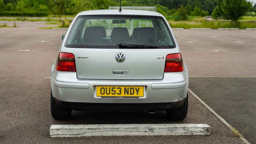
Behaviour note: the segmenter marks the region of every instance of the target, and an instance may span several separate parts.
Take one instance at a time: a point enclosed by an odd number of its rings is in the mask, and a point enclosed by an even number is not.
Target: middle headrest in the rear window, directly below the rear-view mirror
[[[113,28],[110,36],[111,42],[124,43],[129,41],[129,32],[127,28]]]

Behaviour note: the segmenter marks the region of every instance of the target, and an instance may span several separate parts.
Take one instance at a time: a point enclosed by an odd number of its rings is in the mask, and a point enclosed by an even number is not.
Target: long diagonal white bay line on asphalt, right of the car
[[[210,108],[203,100],[201,100],[194,92],[192,92],[190,89],[188,89],[188,91],[190,93],[192,93],[194,95],[194,97],[196,97],[197,100],[199,100],[206,108],[208,108],[215,116],[217,116],[224,124],[226,124],[228,126],[228,128],[230,128],[232,131],[234,131],[235,129],[228,124],[221,116],[219,116],[212,108]],[[244,137],[240,137],[241,140],[243,140],[246,144],[251,144],[249,141],[247,141],[246,139],[244,139]]]

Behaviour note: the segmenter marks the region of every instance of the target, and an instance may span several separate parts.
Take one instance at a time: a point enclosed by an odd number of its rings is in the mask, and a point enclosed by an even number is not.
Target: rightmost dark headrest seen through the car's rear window
[[[155,28],[140,28],[138,34],[138,41],[143,43],[155,43],[156,42],[156,30]]]

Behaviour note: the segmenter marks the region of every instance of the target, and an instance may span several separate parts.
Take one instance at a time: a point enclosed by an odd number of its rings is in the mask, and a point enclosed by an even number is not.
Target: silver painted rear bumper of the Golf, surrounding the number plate
[[[96,86],[98,85],[143,86],[144,97],[97,97]],[[165,73],[163,79],[159,80],[100,80],[78,79],[76,72],[60,72],[54,70],[51,74],[51,87],[53,97],[63,102],[100,104],[170,103],[179,102],[186,98],[188,92],[188,75],[183,71],[177,73]]]

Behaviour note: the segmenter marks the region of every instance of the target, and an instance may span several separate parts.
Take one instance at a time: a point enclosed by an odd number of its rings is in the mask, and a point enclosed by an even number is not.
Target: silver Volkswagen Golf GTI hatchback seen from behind
[[[76,15],[51,69],[52,117],[72,110],[188,111],[188,68],[164,16],[140,10]]]

